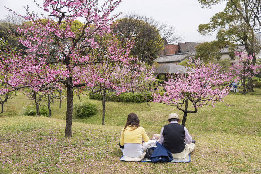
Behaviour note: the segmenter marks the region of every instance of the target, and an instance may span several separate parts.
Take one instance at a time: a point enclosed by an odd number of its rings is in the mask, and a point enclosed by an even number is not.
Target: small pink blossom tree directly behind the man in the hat
[[[192,59],[189,65],[192,65]],[[195,66],[187,66],[185,74],[169,74],[168,82],[161,85],[166,92],[161,96],[157,88],[153,93],[154,102],[175,106],[183,111],[182,125],[185,126],[188,113],[197,113],[198,107],[205,105],[215,107],[214,104],[223,101],[229,93],[232,75],[220,71],[220,68],[218,64],[212,63],[200,66],[198,58]]]

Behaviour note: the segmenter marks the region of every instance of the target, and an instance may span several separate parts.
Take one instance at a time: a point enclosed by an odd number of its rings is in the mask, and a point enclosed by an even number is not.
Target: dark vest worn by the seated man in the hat
[[[180,153],[185,149],[184,126],[177,123],[170,123],[164,126],[163,129],[164,146],[171,153]]]

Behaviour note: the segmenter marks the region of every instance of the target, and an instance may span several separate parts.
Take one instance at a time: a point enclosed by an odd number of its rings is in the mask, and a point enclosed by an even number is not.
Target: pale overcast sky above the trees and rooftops
[[[29,6],[30,11],[38,8],[32,0],[0,0],[0,18],[3,19],[8,11],[4,6],[19,14],[25,14],[23,6]],[[42,2],[38,0],[38,2]],[[208,23],[215,13],[222,11],[225,3],[214,6],[212,9],[201,8],[198,0],[122,0],[115,9],[115,13],[135,12],[140,15],[151,16],[159,22],[167,22],[176,28],[178,35],[184,38],[181,42],[205,42],[215,40],[215,34],[201,36],[198,25]]]

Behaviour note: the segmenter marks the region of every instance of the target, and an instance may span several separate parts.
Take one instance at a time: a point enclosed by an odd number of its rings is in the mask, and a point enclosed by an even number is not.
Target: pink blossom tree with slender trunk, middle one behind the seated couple
[[[96,85],[91,88],[93,93],[102,95],[102,125],[105,125],[105,103],[113,95],[119,95],[122,92],[141,91],[145,84],[151,84],[155,80],[153,76],[154,67],[146,69],[145,62],[136,62],[135,64],[125,65],[107,62],[99,64],[103,66],[98,73],[99,78],[104,81],[96,80]],[[110,74],[110,75],[108,75]],[[113,83],[111,83],[113,82]],[[113,84],[114,86],[111,86]]]

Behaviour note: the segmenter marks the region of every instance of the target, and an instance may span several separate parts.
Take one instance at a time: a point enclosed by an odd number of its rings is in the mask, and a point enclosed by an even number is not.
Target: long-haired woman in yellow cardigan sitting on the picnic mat
[[[130,113],[128,115],[120,136],[120,148],[124,156],[140,157],[144,153],[141,138],[145,142],[150,140],[145,129],[139,123],[140,119],[136,114]]]

